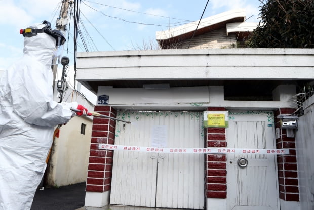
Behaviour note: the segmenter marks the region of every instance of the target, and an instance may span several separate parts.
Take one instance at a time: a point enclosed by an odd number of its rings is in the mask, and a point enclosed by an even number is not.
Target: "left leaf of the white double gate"
[[[117,117],[131,124],[116,122],[115,144],[150,146],[151,125],[146,115],[135,112],[118,112]],[[111,178],[110,204],[155,206],[157,159],[154,153],[114,151]]]

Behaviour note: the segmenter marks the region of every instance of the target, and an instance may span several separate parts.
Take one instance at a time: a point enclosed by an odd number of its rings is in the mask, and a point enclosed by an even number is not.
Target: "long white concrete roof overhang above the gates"
[[[224,86],[226,96],[264,94],[314,80],[314,49],[186,49],[77,54],[76,79],[98,86]]]

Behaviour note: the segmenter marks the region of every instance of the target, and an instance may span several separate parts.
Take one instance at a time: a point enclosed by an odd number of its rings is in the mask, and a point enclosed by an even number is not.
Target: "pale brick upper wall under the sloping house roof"
[[[226,34],[226,29],[213,30],[208,33],[195,36],[190,44],[190,39],[184,40],[182,44],[180,44],[178,49],[211,49],[211,48],[231,48],[232,44],[236,43],[235,35]]]

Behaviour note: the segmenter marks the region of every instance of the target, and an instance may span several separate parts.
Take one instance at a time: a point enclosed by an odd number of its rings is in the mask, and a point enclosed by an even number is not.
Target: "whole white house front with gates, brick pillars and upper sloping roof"
[[[296,131],[282,118],[296,113],[299,87],[314,80],[314,51],[193,44],[221,25],[234,42],[245,37],[234,29],[244,17],[218,15],[193,38],[189,25],[158,32],[168,50],[77,54],[76,79],[97,94],[95,111],[131,122],[94,117],[85,206],[301,209]],[[224,113],[227,123],[206,127],[204,111]],[[188,148],[200,153],[180,153]]]

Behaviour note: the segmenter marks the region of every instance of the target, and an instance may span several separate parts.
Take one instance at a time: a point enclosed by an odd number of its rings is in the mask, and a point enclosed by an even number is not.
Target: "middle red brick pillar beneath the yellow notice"
[[[207,111],[225,111],[223,107],[207,107]],[[207,147],[226,147],[225,128],[207,128]],[[206,190],[207,198],[227,198],[225,154],[206,155]]]

